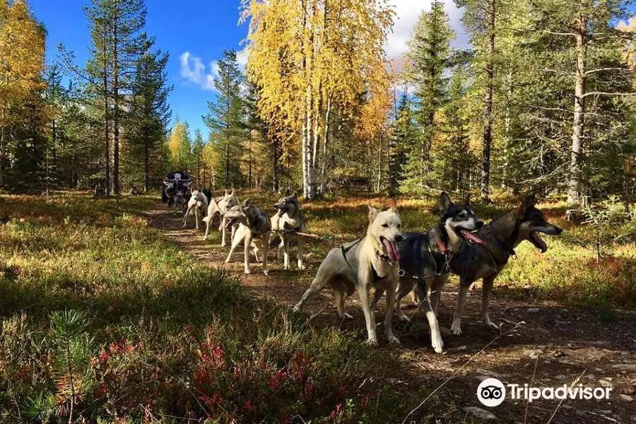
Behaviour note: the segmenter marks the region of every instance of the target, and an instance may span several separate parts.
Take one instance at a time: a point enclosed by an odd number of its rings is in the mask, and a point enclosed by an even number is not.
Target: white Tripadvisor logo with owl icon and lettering
[[[530,387],[528,384],[504,384],[496,378],[487,378],[477,387],[477,399],[484,406],[499,406],[506,398],[506,387],[510,389],[510,399],[525,399],[532,402],[538,399],[609,399],[611,387],[583,387],[578,384],[568,387]]]

